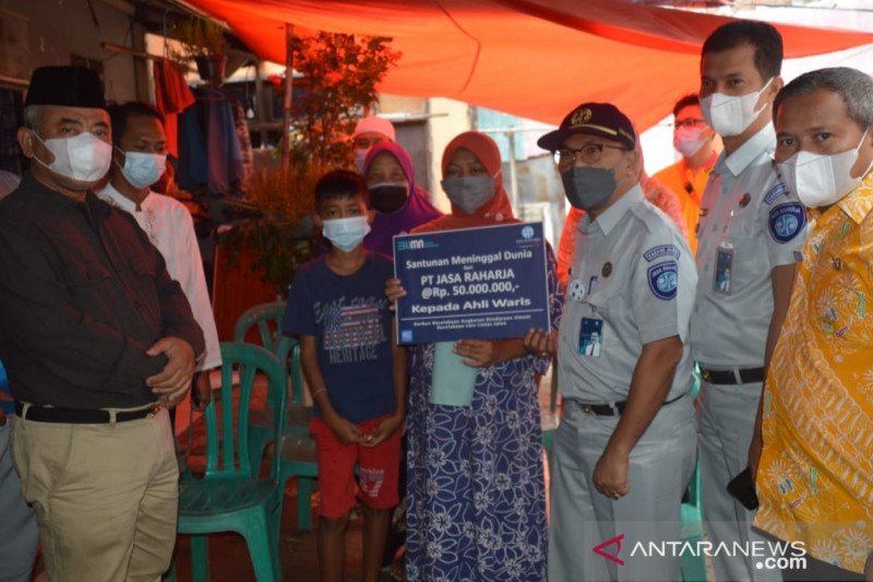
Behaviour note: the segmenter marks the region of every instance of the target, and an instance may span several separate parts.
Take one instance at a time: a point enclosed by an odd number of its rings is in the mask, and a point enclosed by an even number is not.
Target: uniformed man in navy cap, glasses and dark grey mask
[[[558,337],[525,337],[537,352],[557,347],[564,397],[553,444],[552,582],[679,577],[678,557],[631,550],[679,539],[695,455],[685,341],[697,277],[684,237],[643,198],[635,143],[631,121],[599,103],[578,106],[538,142],[554,152],[570,203],[587,212]]]

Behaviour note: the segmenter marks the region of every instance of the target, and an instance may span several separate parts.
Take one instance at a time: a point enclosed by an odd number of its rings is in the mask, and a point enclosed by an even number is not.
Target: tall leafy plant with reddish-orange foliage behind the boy
[[[277,295],[315,248],[315,182],[327,170],[352,168],[348,138],[400,56],[390,44],[385,37],[324,32],[294,39],[295,70],[303,78],[295,80],[288,167],[277,159],[255,164],[243,198],[234,203],[260,217],[237,225],[225,239],[231,260],[254,257],[252,270]]]

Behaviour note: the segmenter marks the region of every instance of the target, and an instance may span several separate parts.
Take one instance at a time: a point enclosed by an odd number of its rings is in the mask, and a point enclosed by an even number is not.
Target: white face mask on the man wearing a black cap
[[[55,162],[46,164],[36,155],[34,159],[55,174],[82,182],[96,182],[109,171],[112,146],[91,132],[82,132],[75,138],[43,140],[36,135],[36,139],[55,154]]]

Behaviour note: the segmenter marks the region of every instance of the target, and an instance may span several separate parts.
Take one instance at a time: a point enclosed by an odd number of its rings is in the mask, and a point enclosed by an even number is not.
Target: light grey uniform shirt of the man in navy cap
[[[685,238],[638,186],[596,221],[586,215],[561,319],[561,394],[586,404],[627,400],[643,345],[672,335],[684,343],[696,284]],[[685,347],[667,400],[690,389],[692,366]]]

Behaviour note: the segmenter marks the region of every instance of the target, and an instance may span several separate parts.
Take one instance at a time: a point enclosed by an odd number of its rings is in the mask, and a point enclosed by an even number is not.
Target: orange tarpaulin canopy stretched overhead
[[[583,100],[611,102],[639,127],[696,92],[706,36],[730,19],[618,0],[189,0],[260,57],[285,61],[285,23],[394,38],[403,57],[382,92],[451,97],[559,123]],[[776,25],[786,57],[873,35]]]

